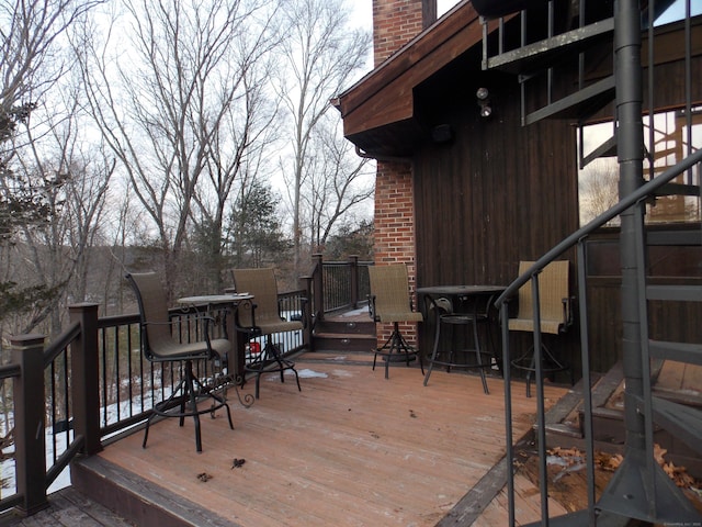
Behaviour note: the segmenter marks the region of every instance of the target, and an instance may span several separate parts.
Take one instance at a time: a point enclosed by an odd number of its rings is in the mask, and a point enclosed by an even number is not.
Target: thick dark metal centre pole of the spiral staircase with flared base
[[[639,13],[639,0],[618,0],[614,4],[620,199],[635,192],[644,183]],[[633,205],[621,215],[622,367],[626,434],[624,462],[604,490],[598,508],[625,518],[656,524],[688,519],[698,523],[699,513],[653,460],[653,445],[648,445],[648,448],[646,445],[646,430],[653,430],[653,415],[650,383],[647,378],[649,358],[645,352],[647,343],[643,341],[648,335],[645,326],[648,317],[645,281],[639,278],[646,272],[644,214],[639,206],[643,205]],[[653,438],[649,441],[653,444]]]

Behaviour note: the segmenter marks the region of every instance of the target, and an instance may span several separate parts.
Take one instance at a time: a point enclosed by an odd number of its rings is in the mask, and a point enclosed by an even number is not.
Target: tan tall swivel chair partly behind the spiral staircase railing
[[[519,274],[525,273],[533,261],[521,261]],[[552,261],[539,274],[539,305],[541,333],[558,335],[565,333],[573,325],[573,299],[569,294],[567,260]],[[532,282],[529,281],[519,289],[519,312],[514,318],[508,321],[510,332],[534,333],[535,313],[532,294]],[[557,371],[570,369],[570,366],[556,357],[542,341],[542,371],[553,374]],[[532,345],[524,354],[513,359],[512,366],[526,371],[526,396],[531,397],[531,375],[535,372],[535,354]],[[573,377],[573,371],[571,371]]]

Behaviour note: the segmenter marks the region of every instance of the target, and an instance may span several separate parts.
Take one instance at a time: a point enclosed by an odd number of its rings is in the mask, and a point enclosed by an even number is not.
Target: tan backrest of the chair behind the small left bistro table
[[[246,304],[239,306],[239,324],[252,326],[253,315],[257,325],[281,322],[278,306],[278,284],[273,268],[233,269],[231,276],[236,291],[252,294],[256,304],[256,313],[252,313]]]

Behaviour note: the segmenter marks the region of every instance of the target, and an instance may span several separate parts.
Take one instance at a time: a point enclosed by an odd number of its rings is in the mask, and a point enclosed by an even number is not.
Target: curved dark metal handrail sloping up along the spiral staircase
[[[629,194],[626,198],[621,200],[610,210],[604,211],[602,214],[590,221],[584,227],[580,227],[575,233],[570,234],[566,238],[564,238],[559,244],[555,245],[551,250],[545,253],[541,258],[539,258],[523,274],[517,278],[506,290],[505,292],[495,301],[496,306],[502,305],[509,298],[513,296],[519,288],[521,288],[524,283],[526,283],[533,274],[541,271],[547,264],[553,261],[555,258],[564,254],[570,247],[576,245],[579,240],[587,237],[595,229],[601,227],[610,220],[619,216],[624,211],[630,209],[632,205],[635,205],[641,200],[647,198],[653,194],[656,190],[661,188],[664,184],[669,182],[676,176],[684,172],[686,170],[692,168],[698,162],[702,162],[702,149],[697,150],[693,154],[690,154],[679,164],[670,167],[668,170],[663,172],[655,179],[652,179],[647,183],[641,186],[634,192]]]

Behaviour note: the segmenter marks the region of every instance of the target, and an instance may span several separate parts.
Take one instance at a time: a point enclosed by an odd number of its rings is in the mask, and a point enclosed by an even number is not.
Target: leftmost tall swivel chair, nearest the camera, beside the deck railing
[[[230,349],[226,338],[210,338],[208,317],[203,318],[202,340],[193,343],[179,341],[179,328],[171,322],[168,314],[166,291],[160,277],[155,272],[127,273],[126,279],[134,289],[139,305],[141,329],[141,346],[144,355],[150,362],[177,362],[180,365],[180,382],[171,395],[157,403],[146,421],[143,448],[149,437],[149,425],[156,416],[179,417],[183,426],[185,417],[193,417],[195,423],[195,448],[202,452],[202,437],[200,434],[200,416],[212,414],[218,408],[226,408],[229,427],[234,429],[229,405],[224,396],[216,393],[211,385],[203,384],[193,371],[193,362],[200,360],[212,361],[222,359]],[[200,408],[197,399],[212,399],[212,405]],[[173,408],[180,406],[178,412]]]

